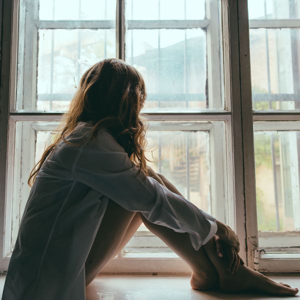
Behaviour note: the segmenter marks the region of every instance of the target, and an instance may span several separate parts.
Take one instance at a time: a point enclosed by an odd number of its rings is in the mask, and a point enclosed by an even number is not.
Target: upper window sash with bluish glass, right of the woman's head
[[[143,110],[223,109],[220,2],[206,3],[206,12],[204,1],[125,4],[125,60],[145,79],[148,95]],[[187,9],[193,4],[198,14]]]

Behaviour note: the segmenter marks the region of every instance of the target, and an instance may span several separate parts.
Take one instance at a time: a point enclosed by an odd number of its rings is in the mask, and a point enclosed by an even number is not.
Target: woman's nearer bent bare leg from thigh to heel
[[[165,185],[162,181],[164,178],[155,179],[162,185]],[[168,184],[168,182],[166,183]],[[168,185],[167,187],[171,191],[179,193],[173,185]],[[187,233],[178,233],[165,226],[153,224],[144,218],[141,213],[125,210],[113,201],[108,202],[103,220],[85,262],[86,285],[126,245],[142,220],[150,231],[161,238],[191,267],[191,287],[196,289],[217,287],[218,276],[215,268],[201,248],[198,251],[194,250]]]

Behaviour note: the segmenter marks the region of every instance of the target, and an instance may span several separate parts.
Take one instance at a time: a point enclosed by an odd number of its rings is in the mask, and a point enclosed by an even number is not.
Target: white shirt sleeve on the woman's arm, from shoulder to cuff
[[[123,208],[140,211],[155,224],[187,232],[198,250],[216,232],[215,218],[184,197],[171,192],[132,162],[106,131],[80,148],[72,177],[97,190]]]

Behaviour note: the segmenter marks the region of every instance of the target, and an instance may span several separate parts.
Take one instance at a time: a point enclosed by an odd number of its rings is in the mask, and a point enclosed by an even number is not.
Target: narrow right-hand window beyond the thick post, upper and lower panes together
[[[300,2],[249,0],[248,9],[260,256],[300,257]]]

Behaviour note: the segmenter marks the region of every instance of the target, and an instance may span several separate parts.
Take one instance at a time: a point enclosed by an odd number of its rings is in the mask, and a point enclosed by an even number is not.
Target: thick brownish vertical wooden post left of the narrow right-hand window
[[[238,1],[239,72],[241,98],[242,154],[244,168],[245,228],[247,263],[254,267],[254,251],[258,246],[254,139],[250,76],[250,48],[247,1]]]

